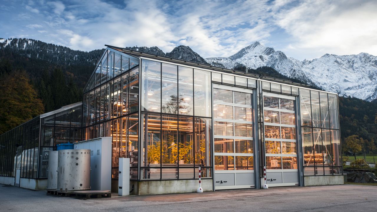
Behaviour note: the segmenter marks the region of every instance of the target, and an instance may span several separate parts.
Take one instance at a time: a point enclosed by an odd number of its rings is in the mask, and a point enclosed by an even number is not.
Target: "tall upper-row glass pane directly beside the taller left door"
[[[195,115],[211,117],[211,72],[194,69]]]

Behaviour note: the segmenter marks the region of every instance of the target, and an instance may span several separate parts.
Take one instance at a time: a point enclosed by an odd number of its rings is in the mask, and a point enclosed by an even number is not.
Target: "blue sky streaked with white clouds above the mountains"
[[[254,41],[299,60],[377,55],[376,0],[2,0],[0,38],[33,38],[90,51],[190,46],[228,57]]]

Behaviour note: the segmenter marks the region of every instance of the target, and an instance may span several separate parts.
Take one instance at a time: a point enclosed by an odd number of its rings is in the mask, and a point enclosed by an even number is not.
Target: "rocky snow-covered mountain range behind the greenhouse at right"
[[[280,74],[311,82],[326,91],[367,101],[377,99],[377,57],[367,53],[325,54],[314,60],[299,61],[256,41],[230,57],[205,60],[225,68],[237,64],[252,69],[269,66]]]

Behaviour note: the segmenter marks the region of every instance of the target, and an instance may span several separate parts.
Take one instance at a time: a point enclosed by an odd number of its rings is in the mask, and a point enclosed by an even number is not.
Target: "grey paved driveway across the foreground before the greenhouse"
[[[0,184],[0,211],[377,211],[377,186],[336,185],[80,200]]]

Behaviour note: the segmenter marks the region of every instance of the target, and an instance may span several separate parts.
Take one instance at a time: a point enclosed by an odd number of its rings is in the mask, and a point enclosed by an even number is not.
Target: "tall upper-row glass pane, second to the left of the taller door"
[[[178,113],[193,115],[193,69],[178,66]]]

